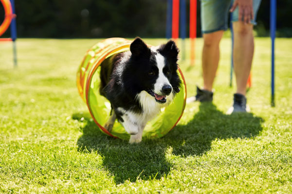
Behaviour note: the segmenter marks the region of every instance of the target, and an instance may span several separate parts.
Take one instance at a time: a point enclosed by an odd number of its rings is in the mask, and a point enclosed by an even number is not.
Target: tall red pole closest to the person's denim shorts
[[[195,65],[196,38],[197,38],[197,0],[190,0],[191,66]]]

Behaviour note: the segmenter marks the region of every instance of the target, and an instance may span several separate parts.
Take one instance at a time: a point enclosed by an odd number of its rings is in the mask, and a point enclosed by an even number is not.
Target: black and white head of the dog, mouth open
[[[159,47],[147,47],[141,38],[130,45],[130,65],[135,85],[146,91],[157,102],[170,101],[180,92],[180,78],[177,73],[178,53],[174,41],[170,40]]]

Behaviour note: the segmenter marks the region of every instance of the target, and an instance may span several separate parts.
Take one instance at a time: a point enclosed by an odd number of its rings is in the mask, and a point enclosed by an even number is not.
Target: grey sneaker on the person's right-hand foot
[[[242,94],[233,95],[233,106],[228,109],[226,114],[232,113],[249,113],[251,110],[248,105],[246,105],[246,97]]]

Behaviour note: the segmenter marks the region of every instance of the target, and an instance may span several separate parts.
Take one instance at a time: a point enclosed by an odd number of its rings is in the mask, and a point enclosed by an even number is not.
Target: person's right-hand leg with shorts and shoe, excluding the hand
[[[237,93],[234,94],[233,106],[227,114],[236,112],[250,112],[246,100],[246,84],[251,71],[254,56],[254,36],[253,26],[256,25],[256,14],[261,0],[253,0],[253,15],[249,24],[244,24],[242,18],[239,18],[239,9],[232,13],[233,30],[234,30],[234,48],[233,64],[237,83]],[[234,3],[234,1],[232,2]]]

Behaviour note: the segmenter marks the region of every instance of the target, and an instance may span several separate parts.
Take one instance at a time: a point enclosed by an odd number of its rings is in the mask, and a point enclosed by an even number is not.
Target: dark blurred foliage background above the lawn
[[[166,0],[15,0],[15,6],[18,37],[165,37]],[[201,36],[200,0],[197,7],[197,34]],[[292,37],[291,12],[292,0],[277,0],[278,37]],[[0,5],[0,22],[3,19]],[[262,0],[257,36],[269,35],[269,19],[270,0]],[[4,37],[9,34],[5,32]]]

